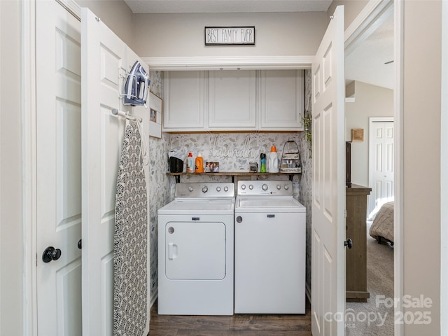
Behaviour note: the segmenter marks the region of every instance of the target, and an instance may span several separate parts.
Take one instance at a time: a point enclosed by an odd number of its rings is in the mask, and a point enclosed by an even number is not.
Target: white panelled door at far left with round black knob
[[[36,64],[37,330],[81,335],[80,22],[56,1],[36,1]]]

